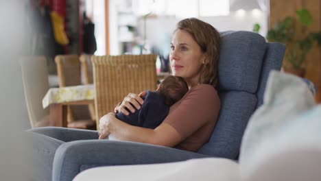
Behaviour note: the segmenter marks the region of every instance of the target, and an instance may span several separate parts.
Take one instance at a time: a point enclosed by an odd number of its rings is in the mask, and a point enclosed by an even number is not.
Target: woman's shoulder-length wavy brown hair
[[[209,23],[195,18],[183,19],[177,23],[176,29],[188,32],[202,52],[206,53],[206,62],[201,67],[198,83],[217,86],[217,67],[221,48],[219,32]]]

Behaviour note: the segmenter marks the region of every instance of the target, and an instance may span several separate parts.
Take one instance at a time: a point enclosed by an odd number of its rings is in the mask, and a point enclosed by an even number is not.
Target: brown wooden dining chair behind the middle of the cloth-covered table
[[[59,86],[78,86],[81,83],[80,60],[77,55],[58,55],[55,58]],[[77,121],[74,121],[77,120]],[[93,129],[95,121],[91,120],[88,105],[69,106],[67,109],[69,128]],[[73,124],[71,124],[73,123]]]

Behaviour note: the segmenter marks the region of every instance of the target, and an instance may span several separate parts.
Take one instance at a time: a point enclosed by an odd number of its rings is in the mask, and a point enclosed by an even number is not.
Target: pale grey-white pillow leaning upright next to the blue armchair
[[[250,118],[242,138],[239,156],[241,173],[252,171],[257,165],[256,162],[262,160],[264,155],[278,149],[276,144],[273,144],[278,141],[276,134],[287,130],[299,114],[315,104],[311,91],[300,77],[271,71],[263,105]],[[264,143],[266,141],[272,144],[267,145]],[[294,139],[292,141],[295,142]],[[281,147],[282,145],[283,143],[278,144]]]

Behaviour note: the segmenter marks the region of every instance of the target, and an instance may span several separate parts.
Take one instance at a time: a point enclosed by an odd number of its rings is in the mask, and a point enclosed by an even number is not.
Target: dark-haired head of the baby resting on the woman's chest
[[[182,77],[169,75],[158,86],[157,90],[165,97],[165,104],[171,106],[176,101],[182,99],[189,90],[189,87]]]

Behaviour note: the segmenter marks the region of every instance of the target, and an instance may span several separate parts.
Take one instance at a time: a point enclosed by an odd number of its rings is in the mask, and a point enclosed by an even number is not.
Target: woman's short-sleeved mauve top
[[[182,136],[178,149],[197,152],[209,141],[221,104],[217,91],[208,84],[194,86],[171,106],[164,123],[171,125]]]

